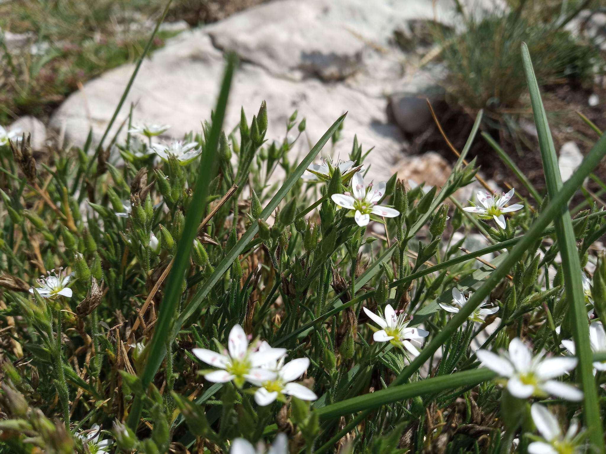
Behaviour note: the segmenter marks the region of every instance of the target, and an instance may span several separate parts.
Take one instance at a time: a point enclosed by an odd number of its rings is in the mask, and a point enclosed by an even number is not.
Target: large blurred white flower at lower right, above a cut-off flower
[[[574,369],[576,358],[544,358],[544,352],[533,358],[530,349],[518,338],[512,339],[509,351],[501,351],[501,355],[488,350],[478,350],[476,355],[482,366],[508,378],[507,390],[517,398],[544,397],[550,394],[569,401],[580,401],[583,398],[581,390],[553,380]]]

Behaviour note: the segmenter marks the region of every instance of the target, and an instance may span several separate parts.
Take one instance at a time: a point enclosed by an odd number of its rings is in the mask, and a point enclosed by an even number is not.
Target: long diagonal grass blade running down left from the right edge
[[[418,370],[425,361],[427,361],[439,347],[444,344],[450,336],[459,329],[459,327],[467,321],[467,317],[471,315],[482,301],[490,294],[490,292],[505,278],[511,267],[524,255],[526,250],[541,236],[543,230],[550,224],[556,216],[561,215],[562,206],[566,205],[574,193],[581,187],[583,180],[589,175],[593,169],[600,163],[601,159],[606,155],[606,136],[601,138],[593,149],[585,156],[585,159],[579,165],[576,172],[573,173],[570,179],[562,186],[562,190],[550,201],[545,207],[541,215],[530,226],[526,235],[522,236],[518,244],[516,244],[507,258],[496,267],[496,269],[488,276],[484,284],[471,295],[471,298],[462,307],[462,309],[454,314],[448,324],[440,332],[436,333],[431,342],[425,346],[419,356],[417,356],[395,379],[394,384],[399,385],[407,381],[413,373]]]

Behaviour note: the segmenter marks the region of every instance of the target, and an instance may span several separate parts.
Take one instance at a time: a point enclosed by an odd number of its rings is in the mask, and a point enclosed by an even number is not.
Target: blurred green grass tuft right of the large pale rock
[[[507,111],[519,107],[525,94],[519,47],[525,42],[536,62],[541,85],[573,79],[593,82],[601,61],[599,50],[573,38],[557,16],[541,20],[532,2],[521,2],[508,12],[496,10],[482,19],[465,19],[465,31],[442,34],[442,57],[450,71],[448,92],[455,102],[476,110]]]

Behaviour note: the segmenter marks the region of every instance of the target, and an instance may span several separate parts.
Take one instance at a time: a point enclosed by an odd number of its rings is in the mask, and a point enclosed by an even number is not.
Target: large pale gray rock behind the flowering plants
[[[375,146],[370,176],[386,178],[407,147],[388,121],[387,96],[418,92],[443,73],[431,62],[423,68],[408,62],[393,43],[393,31],[411,19],[451,22],[452,5],[450,0],[276,0],[184,32],[142,64],[112,133],[131,103],[136,121],[170,124],[170,136],[198,130],[215,105],[224,53],[234,51],[241,65],[225,129],[238,124],[241,106],[250,118],[266,100],[267,138],[283,138],[288,116],[298,109],[299,118],[307,118],[307,142],[314,144],[348,111],[335,153],[348,153],[357,134],[365,149]],[[54,113],[52,127],[65,131],[73,144],[84,143],[92,128],[98,141],[133,68],[124,65],[85,84]]]

